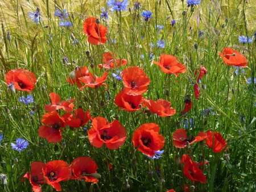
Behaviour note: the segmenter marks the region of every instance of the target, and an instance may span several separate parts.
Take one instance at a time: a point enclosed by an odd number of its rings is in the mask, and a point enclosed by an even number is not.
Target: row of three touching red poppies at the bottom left
[[[86,182],[98,182],[98,178],[93,177],[93,173],[97,173],[97,164],[89,157],[78,157],[73,160],[69,166],[67,162],[56,160],[43,162],[32,162],[31,174],[25,173],[22,177],[30,180],[32,190],[34,192],[42,192],[39,184],[47,183],[56,191],[61,191],[60,181],[85,180]],[[73,176],[72,176],[73,173]],[[100,175],[99,175],[100,176]]]

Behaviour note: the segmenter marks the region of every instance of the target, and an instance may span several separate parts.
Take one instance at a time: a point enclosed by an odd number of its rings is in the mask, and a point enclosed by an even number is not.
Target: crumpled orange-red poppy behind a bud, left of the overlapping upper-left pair
[[[79,78],[84,76],[89,76],[90,74],[92,73],[89,72],[87,66],[84,66],[84,67],[77,66],[75,70],[73,70],[71,74],[68,76],[67,82],[72,86],[77,85],[77,87],[81,87],[82,84],[79,81]]]

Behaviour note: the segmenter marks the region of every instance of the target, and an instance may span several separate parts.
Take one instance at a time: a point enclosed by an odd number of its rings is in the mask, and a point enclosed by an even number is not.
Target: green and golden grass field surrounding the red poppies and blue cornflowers
[[[5,191],[31,191],[28,180],[23,183],[23,175],[30,171],[31,162],[63,160],[71,164],[77,157],[91,157],[98,165],[101,174],[98,183],[69,180],[60,182],[63,191],[183,191],[181,186],[188,183],[195,186],[195,191],[253,191],[255,189],[255,84],[247,84],[248,78],[255,78],[256,41],[242,44],[238,36],[253,36],[256,7],[253,1],[205,1],[196,5],[194,11],[185,1],[142,1],[140,10],[110,12],[108,20],[101,19],[101,24],[108,27],[108,43],[91,45],[82,31],[82,24],[87,16],[100,18],[101,7],[108,8],[104,1],[18,1],[0,3],[0,40],[1,86],[0,86],[0,132],[3,140],[0,145],[0,173],[7,174],[7,185],[0,183]],[[67,9],[68,20],[73,27],[59,26],[59,19],[54,16],[55,6]],[[44,20],[39,24],[28,18],[29,11],[36,7]],[[144,22],[141,12],[151,10],[154,18]],[[182,12],[185,11],[186,15]],[[171,20],[176,19],[174,27]],[[155,25],[163,25],[159,33]],[[205,32],[198,37],[198,30]],[[11,40],[7,39],[7,31]],[[78,40],[72,44],[71,34]],[[144,36],[144,40],[141,36]],[[112,40],[117,40],[113,44]],[[164,39],[164,48],[157,48],[159,39]],[[151,47],[151,43],[155,47]],[[195,44],[198,48],[195,48]],[[217,51],[231,47],[245,55],[248,67],[245,74],[236,74],[233,66],[225,65]],[[90,52],[89,59],[86,51]],[[117,58],[127,59],[129,63],[114,69],[100,69],[97,64],[104,63],[102,55],[112,51]],[[154,59],[150,59],[150,53]],[[144,54],[144,59],[141,55]],[[176,77],[165,74],[153,64],[159,61],[160,54],[169,54],[180,59],[187,72]],[[68,63],[63,64],[63,58]],[[91,68],[92,62],[94,68]],[[204,65],[207,75],[201,79],[205,89],[201,89],[199,100],[194,97],[195,70]],[[109,86],[98,89],[86,87],[80,91],[68,84],[67,77],[76,66],[87,66],[90,72],[101,76],[109,73],[105,82]],[[130,66],[139,66],[150,77],[146,99],[166,99],[176,109],[171,117],[148,115],[144,109],[128,112],[118,110],[114,98],[123,88],[122,81],[112,77],[115,70],[122,71]],[[31,93],[16,90],[12,93],[5,83],[5,74],[9,70],[23,68],[33,72],[38,78]],[[38,128],[44,106],[50,103],[49,93],[60,95],[61,101],[75,98],[75,108],[90,110],[95,118],[102,116],[112,122],[118,119],[126,128],[126,142],[116,150],[96,148],[90,144],[88,134],[82,128],[65,128],[63,140],[52,144],[38,135]],[[18,101],[22,95],[32,94],[35,102],[25,105]],[[192,110],[187,116],[180,115],[184,108],[186,95],[191,95]],[[106,97],[108,96],[109,99]],[[104,104],[104,105],[102,105]],[[201,110],[213,108],[214,115],[202,115]],[[28,115],[29,111],[34,115]],[[59,111],[62,115],[64,111]],[[25,117],[25,115],[27,115]],[[228,151],[214,153],[205,144],[194,143],[188,150],[177,149],[173,145],[172,133],[183,128],[182,119],[193,119],[192,127],[186,129],[188,135],[196,136],[201,131],[217,131],[228,141]],[[184,120],[183,120],[184,121]],[[134,131],[144,123],[156,123],[160,134],[164,136],[164,153],[158,160],[151,160],[133,147],[131,141]],[[90,122],[86,127],[90,128]],[[17,138],[30,142],[22,152],[14,151],[10,143]],[[65,142],[66,147],[61,145]],[[229,153],[229,158],[226,154]],[[203,159],[209,163],[203,166],[207,183],[193,183],[183,176],[180,164],[175,158],[189,154],[193,161]],[[108,163],[113,169],[110,170]],[[157,167],[160,175],[156,174]],[[1,181],[1,178],[0,178]],[[130,186],[130,187],[129,187]],[[51,186],[42,185],[43,191],[54,191]]]

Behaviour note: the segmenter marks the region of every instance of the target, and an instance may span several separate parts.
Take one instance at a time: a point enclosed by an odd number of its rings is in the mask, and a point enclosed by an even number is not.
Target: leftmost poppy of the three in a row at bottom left
[[[31,174],[30,172],[27,172],[22,177],[22,182],[24,181],[24,178],[27,178],[30,180],[30,184],[32,185],[32,190],[34,192],[42,192],[42,188],[38,183],[44,183],[44,177],[42,173],[42,168],[44,166],[43,162],[32,162],[30,168],[31,168]]]

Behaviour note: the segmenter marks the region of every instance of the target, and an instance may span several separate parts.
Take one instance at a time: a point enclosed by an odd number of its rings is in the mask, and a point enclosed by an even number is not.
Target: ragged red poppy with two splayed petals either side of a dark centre
[[[200,132],[195,138],[190,136],[187,137],[187,133],[184,128],[177,129],[172,135],[172,139],[174,139],[174,145],[177,148],[187,147],[186,143],[192,144],[194,142],[198,142],[204,140],[207,137],[207,133]]]

